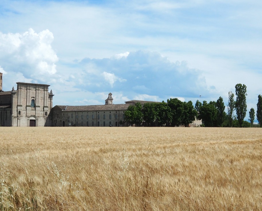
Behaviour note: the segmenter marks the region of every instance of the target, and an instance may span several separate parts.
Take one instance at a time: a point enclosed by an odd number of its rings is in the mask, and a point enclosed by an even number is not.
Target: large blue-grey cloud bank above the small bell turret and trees
[[[199,96],[199,93],[210,95],[200,70],[188,67],[186,61],[170,62],[158,52],[129,52],[121,59],[115,56],[84,58],[77,64],[82,69],[78,77],[85,81],[88,91],[121,91],[130,99],[152,101],[166,100],[171,96],[188,99]]]

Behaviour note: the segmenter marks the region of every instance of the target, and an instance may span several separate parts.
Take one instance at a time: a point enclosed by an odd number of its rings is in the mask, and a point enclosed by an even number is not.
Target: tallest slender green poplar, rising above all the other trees
[[[243,121],[247,113],[247,87],[245,84],[238,83],[236,86],[236,112],[237,112],[237,119],[239,121],[239,126],[242,128]]]

